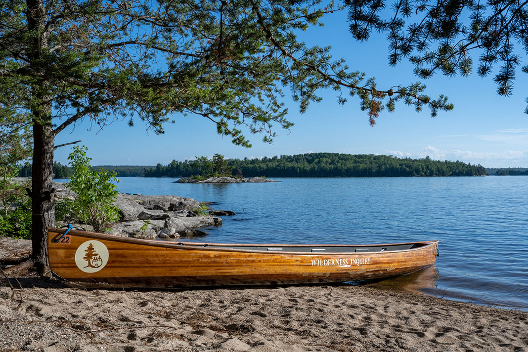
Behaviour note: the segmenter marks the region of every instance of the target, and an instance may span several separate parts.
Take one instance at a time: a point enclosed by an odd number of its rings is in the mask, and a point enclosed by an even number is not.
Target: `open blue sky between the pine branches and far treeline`
[[[146,131],[139,120],[129,127],[127,120],[121,119],[103,130],[90,128],[85,121],[62,131],[55,144],[81,140],[80,144],[89,148],[93,165],[165,165],[172,160],[211,157],[215,153],[243,159],[335,152],[429,156],[488,168],[528,167],[528,115],[524,113],[528,80],[520,69],[509,97],[496,94],[494,74],[484,78],[475,72],[469,77],[451,78],[436,74],[420,80],[407,61],[389,66],[388,43],[383,34],[373,34],[367,42],[355,41],[348,32],[344,12],[328,15],[323,22],[324,27],[300,33],[301,40],[311,45],[331,45],[334,58],[344,57],[352,70],[374,76],[379,89],[425,83],[426,94],[433,99],[447,95],[454,110],[431,118],[428,108],[415,112],[413,107],[400,103],[393,113],[382,111],[372,127],[357,97],[349,97],[342,106],[337,104],[336,92],[328,90],[320,91],[323,101],[312,103],[304,114],[286,96],[287,118],[294,126],[290,131],[275,129],[277,136],[272,144],[262,142],[262,135],[246,134],[252,143],[250,149],[235,146],[230,138],[216,134],[215,125],[203,117],[179,114],[172,116],[175,124],[165,125],[163,135]],[[522,60],[525,65],[528,58],[523,56]],[[70,152],[70,146],[57,149],[55,160],[67,164]]]

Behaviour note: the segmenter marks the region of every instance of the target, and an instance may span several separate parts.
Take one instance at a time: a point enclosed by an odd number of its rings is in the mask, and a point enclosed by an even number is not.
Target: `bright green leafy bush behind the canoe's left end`
[[[105,230],[109,223],[117,221],[119,213],[115,209],[114,198],[118,191],[115,173],[107,170],[93,171],[91,158],[86,156],[86,146],[75,146],[68,157],[73,175],[67,184],[68,189],[77,193],[73,201],[65,201],[71,207],[71,217],[81,223],[90,224],[97,232]]]

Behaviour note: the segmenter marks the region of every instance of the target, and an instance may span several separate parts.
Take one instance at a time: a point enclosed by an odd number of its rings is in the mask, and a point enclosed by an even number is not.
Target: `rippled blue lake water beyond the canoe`
[[[218,202],[237,214],[203,242],[440,240],[436,268],[380,286],[528,310],[528,177],[284,178],[185,184],[121,178],[120,192]]]

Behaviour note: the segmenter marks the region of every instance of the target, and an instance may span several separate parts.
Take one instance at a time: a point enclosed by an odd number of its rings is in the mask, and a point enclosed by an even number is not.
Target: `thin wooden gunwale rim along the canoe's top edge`
[[[48,236],[52,236],[51,233],[62,234],[67,229],[64,228],[54,228],[48,227]],[[294,248],[308,248],[308,247],[331,247],[331,248],[350,248],[350,247],[381,247],[381,246],[396,246],[396,245],[422,245],[416,248],[410,249],[401,249],[401,250],[385,250],[383,253],[398,253],[398,252],[409,252],[424,250],[430,246],[438,246],[438,240],[434,241],[416,241],[416,242],[402,242],[402,243],[380,243],[374,245],[335,245],[335,244],[322,244],[314,243],[308,245],[292,245],[284,243],[206,243],[206,242],[168,242],[168,241],[155,241],[155,240],[146,240],[138,238],[129,238],[129,237],[119,237],[112,236],[110,234],[87,232],[87,231],[78,231],[70,230],[68,232],[73,236],[80,236],[93,239],[105,239],[115,242],[126,242],[126,243],[135,243],[137,245],[143,246],[153,246],[153,247],[164,247],[171,249],[180,249],[180,250],[201,250],[201,251],[222,251],[222,252],[242,252],[242,253],[269,253],[269,254],[283,254],[283,255],[302,255],[302,256],[343,256],[343,255],[372,255],[373,253],[381,252],[298,252],[298,251],[285,251],[285,250],[255,250],[255,249],[239,249],[239,248],[229,248],[229,247],[294,247]],[[225,248],[228,247],[228,248]]]

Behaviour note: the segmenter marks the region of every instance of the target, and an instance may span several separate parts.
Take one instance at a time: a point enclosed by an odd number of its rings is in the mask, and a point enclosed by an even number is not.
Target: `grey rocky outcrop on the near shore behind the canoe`
[[[70,192],[62,183],[54,183],[56,201],[74,199],[76,194]],[[178,238],[180,236],[203,236],[204,232],[195,230],[203,226],[221,226],[222,219],[210,214],[203,214],[203,203],[192,198],[175,195],[117,195],[114,204],[118,209],[121,221],[113,224],[108,234],[120,237],[154,239]],[[218,211],[218,216],[234,215],[229,210]],[[61,224],[59,224],[60,226]],[[81,228],[83,226],[81,225]],[[84,227],[86,229],[86,227]],[[90,231],[91,229],[86,229]]]

